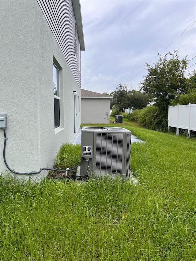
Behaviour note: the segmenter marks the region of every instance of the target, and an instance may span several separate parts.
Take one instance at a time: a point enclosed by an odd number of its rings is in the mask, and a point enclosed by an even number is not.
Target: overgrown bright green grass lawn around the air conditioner
[[[145,141],[131,147],[140,185],[1,179],[0,260],[196,260],[196,140],[123,121],[110,126]],[[72,147],[57,166],[80,162]]]

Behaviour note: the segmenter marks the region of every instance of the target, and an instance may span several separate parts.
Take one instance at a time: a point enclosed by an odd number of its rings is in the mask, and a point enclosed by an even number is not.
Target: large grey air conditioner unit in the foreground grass
[[[130,178],[131,131],[115,127],[82,127],[80,175]]]

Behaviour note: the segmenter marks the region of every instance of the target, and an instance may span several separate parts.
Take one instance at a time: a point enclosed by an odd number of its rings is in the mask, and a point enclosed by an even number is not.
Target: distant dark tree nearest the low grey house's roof
[[[127,109],[129,107],[129,96],[126,84],[120,84],[115,88],[113,93],[113,104],[118,110]]]

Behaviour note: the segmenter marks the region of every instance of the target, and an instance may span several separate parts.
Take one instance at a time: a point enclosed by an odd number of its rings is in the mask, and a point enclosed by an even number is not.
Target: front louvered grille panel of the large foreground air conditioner
[[[97,133],[95,177],[115,178],[123,170],[123,133]]]

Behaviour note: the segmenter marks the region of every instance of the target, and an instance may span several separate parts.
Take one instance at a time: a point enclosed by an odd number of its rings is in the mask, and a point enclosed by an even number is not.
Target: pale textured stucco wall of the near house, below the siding
[[[73,90],[77,91],[78,102],[80,86],[37,1],[1,1],[1,13],[4,15],[0,15],[0,114],[7,114],[6,160],[18,172],[51,168],[61,144],[74,138]],[[54,58],[62,68],[57,129],[54,128]],[[77,130],[81,124],[78,106],[77,103]],[[3,143],[0,129],[0,173],[6,173]],[[42,171],[31,178],[46,174],[47,171]]]

